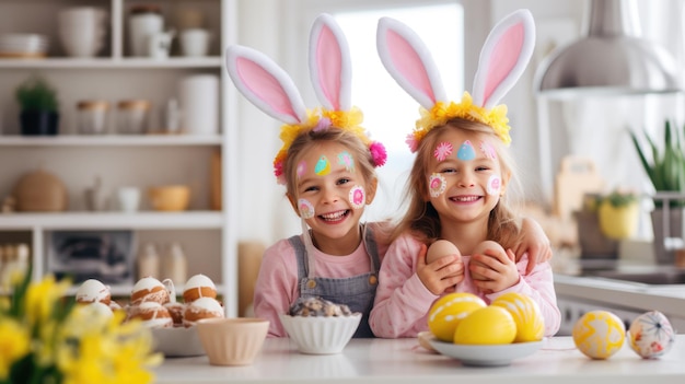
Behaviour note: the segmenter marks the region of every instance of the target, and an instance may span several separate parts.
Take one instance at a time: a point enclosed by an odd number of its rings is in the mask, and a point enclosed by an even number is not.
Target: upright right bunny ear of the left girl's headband
[[[310,75],[318,102],[329,110],[351,109],[352,65],[342,30],[321,14],[310,33]]]

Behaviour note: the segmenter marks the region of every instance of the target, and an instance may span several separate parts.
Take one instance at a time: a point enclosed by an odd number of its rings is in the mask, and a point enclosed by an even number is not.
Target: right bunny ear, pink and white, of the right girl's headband
[[[502,19],[488,35],[474,79],[474,104],[487,109],[511,90],[533,55],[535,22],[529,10]]]

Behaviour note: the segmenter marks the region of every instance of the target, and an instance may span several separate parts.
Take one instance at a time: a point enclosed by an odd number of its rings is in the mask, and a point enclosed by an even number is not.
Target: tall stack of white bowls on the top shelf
[[[94,7],[73,7],[59,12],[59,39],[70,57],[95,57],[105,46],[107,12]]]

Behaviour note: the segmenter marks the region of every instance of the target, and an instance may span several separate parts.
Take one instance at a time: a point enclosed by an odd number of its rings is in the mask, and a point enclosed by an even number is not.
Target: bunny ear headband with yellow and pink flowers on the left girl
[[[322,104],[306,109],[292,79],[266,55],[243,46],[227,49],[227,70],[235,88],[267,115],[285,123],[283,146],[274,160],[274,173],[285,184],[283,164],[292,141],[310,130],[337,128],[352,132],[369,147],[375,166],[385,163],[385,148],[371,141],[360,127],[361,110],[350,104],[351,65],[342,30],[322,14],[310,33],[310,77]]]

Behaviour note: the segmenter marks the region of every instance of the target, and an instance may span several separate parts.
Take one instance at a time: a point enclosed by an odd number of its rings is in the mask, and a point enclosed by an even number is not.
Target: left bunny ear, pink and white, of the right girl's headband
[[[376,48],[385,69],[423,108],[446,102],[438,67],[421,38],[406,24],[381,18]]]

